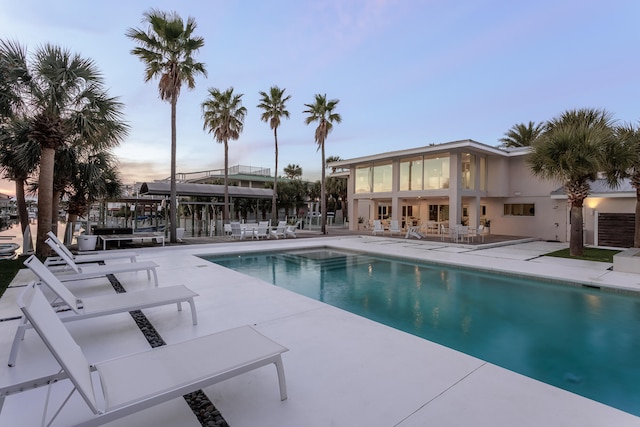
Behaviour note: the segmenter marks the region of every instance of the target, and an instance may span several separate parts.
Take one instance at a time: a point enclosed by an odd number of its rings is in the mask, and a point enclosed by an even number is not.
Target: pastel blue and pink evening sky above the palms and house
[[[126,183],[170,173],[170,107],[124,35],[151,7],[194,17],[205,39],[196,58],[208,78],[178,101],[179,172],[224,167],[222,144],[202,129],[211,87],[233,86],[248,109],[229,164],[272,173],[258,92],[286,88],[278,173],[298,164],[309,180],[321,157],[302,111],[316,93],[340,100],[326,153],[343,159],[467,138],[497,145],[514,124],[571,108],[640,118],[637,0],[2,1],[0,37],[92,58],[125,104],[131,132],[116,154]]]

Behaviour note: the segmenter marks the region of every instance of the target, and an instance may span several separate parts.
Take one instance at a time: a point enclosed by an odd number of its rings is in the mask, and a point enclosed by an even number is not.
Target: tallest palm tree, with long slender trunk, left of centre
[[[193,35],[196,29],[194,18],[189,17],[185,23],[176,12],[150,9],[144,13],[145,21],[147,30],[129,28],[126,36],[139,45],[131,53],[145,63],[144,81],[159,78],[160,99],[171,104],[169,238],[176,243],[176,105],[183,83],[193,89],[196,75],[207,76],[205,65],[193,58],[193,54],[204,46],[204,38]]]

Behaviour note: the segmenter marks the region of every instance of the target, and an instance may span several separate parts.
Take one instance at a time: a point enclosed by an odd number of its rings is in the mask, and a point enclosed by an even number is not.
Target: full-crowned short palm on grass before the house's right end
[[[571,206],[571,256],[582,256],[584,251],[582,206],[589,183],[606,168],[607,147],[614,140],[612,123],[604,110],[566,111],[547,123],[527,159],[534,175],[564,184]]]

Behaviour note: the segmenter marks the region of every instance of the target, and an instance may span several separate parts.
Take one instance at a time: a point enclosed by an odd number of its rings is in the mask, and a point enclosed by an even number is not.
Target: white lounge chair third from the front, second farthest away
[[[151,280],[151,273],[153,273],[153,279],[156,287],[158,286],[158,273],[156,272],[156,268],[158,264],[152,261],[144,261],[144,262],[131,262],[131,263],[120,263],[120,264],[109,264],[109,265],[78,265],[74,260],[69,258],[66,253],[60,250],[58,245],[56,245],[53,240],[47,239],[45,240],[47,245],[49,245],[56,253],[67,263],[67,265],[71,268],[68,272],[55,272],[57,273],[57,277],[62,282],[68,282],[69,280],[82,280],[82,279],[91,279],[95,277],[106,276],[107,274],[118,274],[118,273],[131,273],[135,271],[146,271],[147,279]],[[26,262],[33,257],[33,255],[27,259]]]

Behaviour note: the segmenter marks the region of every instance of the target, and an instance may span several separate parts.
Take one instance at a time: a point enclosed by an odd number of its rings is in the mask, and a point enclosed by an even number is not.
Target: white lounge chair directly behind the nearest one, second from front
[[[198,314],[196,313],[196,306],[193,301],[193,297],[198,296],[198,294],[184,285],[151,288],[90,298],[78,298],[47,270],[37,258],[29,264],[29,269],[36,273],[42,283],[53,291],[55,299],[51,301],[51,305],[63,310],[70,309],[73,312],[73,314],[62,317],[63,322],[90,319],[92,317],[107,316],[116,313],[126,313],[167,304],[177,304],[178,311],[182,311],[182,303],[186,302],[191,306],[191,320],[193,324],[198,324]],[[28,286],[36,286],[36,284],[37,282],[33,282]],[[24,334],[27,329],[31,328],[32,325],[30,325],[27,318],[23,316],[16,330],[16,335],[13,338],[13,345],[9,353],[9,366],[15,366],[20,342],[24,340]]]

